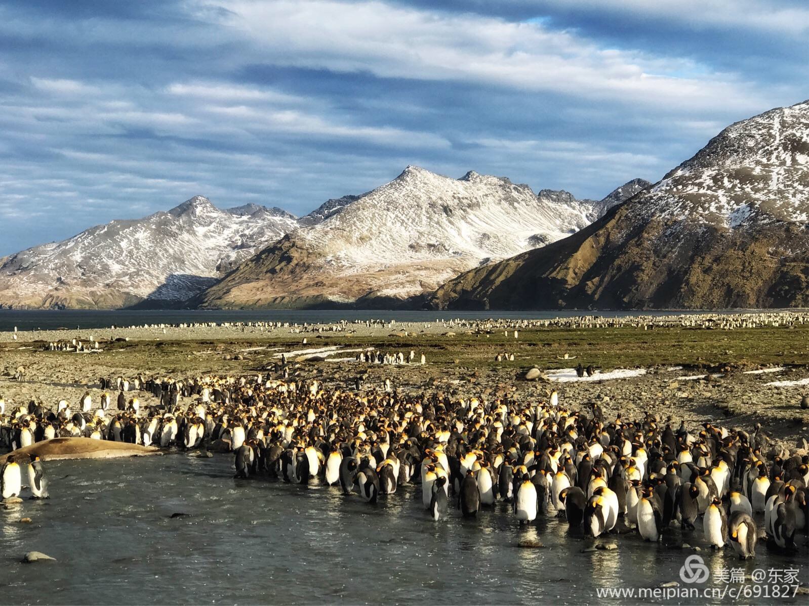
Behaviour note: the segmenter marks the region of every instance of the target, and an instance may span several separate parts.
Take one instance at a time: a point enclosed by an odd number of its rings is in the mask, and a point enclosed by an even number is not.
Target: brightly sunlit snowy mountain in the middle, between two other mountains
[[[607,203],[408,166],[287,234],[197,297],[203,307],[397,305],[481,263],[575,233]],[[319,209],[320,210],[320,209]]]

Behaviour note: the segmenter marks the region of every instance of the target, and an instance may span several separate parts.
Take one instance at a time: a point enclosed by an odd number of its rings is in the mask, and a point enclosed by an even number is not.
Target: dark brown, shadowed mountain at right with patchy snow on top
[[[725,128],[570,238],[438,289],[455,309],[809,306],[809,101]]]

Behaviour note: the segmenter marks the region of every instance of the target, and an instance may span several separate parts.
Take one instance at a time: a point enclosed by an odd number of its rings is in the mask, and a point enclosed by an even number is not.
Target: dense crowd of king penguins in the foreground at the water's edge
[[[205,447],[234,453],[235,478],[320,478],[368,503],[419,484],[434,520],[450,507],[474,518],[501,500],[520,525],[559,516],[586,536],[637,532],[646,541],[679,525],[715,549],[730,544],[739,558],[753,558],[765,537],[788,553],[807,541],[809,457],[768,452],[760,425],[748,433],[710,423],[675,430],[671,418],[649,414],[609,420],[595,402],[562,406],[556,392],[548,402],[486,402],[261,375],[100,385],[119,390],[117,410],[107,393],[92,413],[89,392],[81,412],[64,401],[56,413],[31,402],[2,414],[2,441],[12,450],[54,436]],[[130,387],[160,404],[141,409],[138,398],[125,397]],[[21,477],[12,454],[0,472],[3,498],[19,494]],[[28,478],[34,496],[47,496],[37,461]]]

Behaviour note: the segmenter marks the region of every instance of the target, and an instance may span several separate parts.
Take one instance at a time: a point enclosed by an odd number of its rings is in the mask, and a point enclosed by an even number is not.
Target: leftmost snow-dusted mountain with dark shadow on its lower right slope
[[[298,226],[281,208],[222,210],[202,196],[0,259],[0,306],[119,308],[182,301]]]

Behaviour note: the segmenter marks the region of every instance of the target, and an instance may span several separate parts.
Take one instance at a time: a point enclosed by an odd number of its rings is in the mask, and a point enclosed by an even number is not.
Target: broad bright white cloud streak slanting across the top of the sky
[[[455,80],[682,111],[759,107],[752,86],[688,59],[599,48],[572,32],[382,2],[225,0],[227,24],[275,65]],[[681,77],[680,74],[700,74]]]

